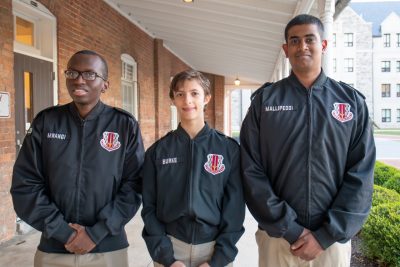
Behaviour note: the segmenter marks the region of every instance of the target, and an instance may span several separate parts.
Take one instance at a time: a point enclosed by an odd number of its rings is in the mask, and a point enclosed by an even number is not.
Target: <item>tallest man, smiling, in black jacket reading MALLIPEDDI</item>
[[[257,91],[243,122],[246,203],[260,267],[350,266],[350,238],[370,207],[375,145],[364,96],[321,68],[321,21],[293,18],[289,77]]]

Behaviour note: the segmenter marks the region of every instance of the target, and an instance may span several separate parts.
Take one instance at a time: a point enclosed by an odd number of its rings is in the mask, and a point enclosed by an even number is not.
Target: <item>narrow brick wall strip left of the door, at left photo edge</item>
[[[10,93],[11,118],[0,118],[0,243],[15,233],[9,193],[15,160],[14,54],[11,0],[0,1],[0,91]]]

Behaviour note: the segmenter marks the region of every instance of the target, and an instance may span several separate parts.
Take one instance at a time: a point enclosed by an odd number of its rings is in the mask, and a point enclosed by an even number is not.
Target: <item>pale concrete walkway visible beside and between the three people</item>
[[[245,228],[246,232],[238,243],[239,254],[234,262],[235,267],[257,266],[258,251],[254,238],[257,223],[248,211],[246,213]],[[130,267],[153,266],[150,255],[147,252],[146,244],[142,238],[143,221],[140,213],[127,224],[125,229],[130,244],[128,249]],[[0,245],[0,266],[33,266],[33,256],[39,244],[39,239],[40,233],[33,231]]]

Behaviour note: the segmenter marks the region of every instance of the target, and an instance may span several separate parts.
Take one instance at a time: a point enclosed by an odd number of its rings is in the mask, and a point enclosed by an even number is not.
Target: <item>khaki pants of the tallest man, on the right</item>
[[[290,253],[284,238],[270,237],[260,229],[256,232],[259,267],[349,267],[351,241],[334,243],[312,261],[305,261]]]

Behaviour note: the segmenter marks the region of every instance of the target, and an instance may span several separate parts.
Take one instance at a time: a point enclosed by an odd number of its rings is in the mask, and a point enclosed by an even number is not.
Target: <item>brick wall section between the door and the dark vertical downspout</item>
[[[102,100],[121,106],[121,54],[132,56],[138,66],[139,122],[146,146],[155,140],[154,40],[101,0],[40,0],[57,18],[59,102],[70,101],[63,71],[72,54],[90,49],[109,65],[110,89]],[[88,12],[90,10],[90,12]]]

